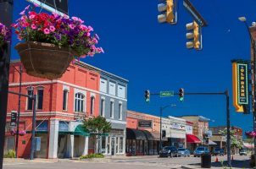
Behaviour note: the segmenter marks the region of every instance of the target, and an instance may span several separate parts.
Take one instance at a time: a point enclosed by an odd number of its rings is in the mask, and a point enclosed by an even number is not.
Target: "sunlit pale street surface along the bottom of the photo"
[[[221,167],[220,161],[225,161],[226,156],[218,157],[219,162],[215,156],[212,157],[212,168]],[[232,161],[233,168],[249,168],[249,156],[234,155]],[[198,157],[175,157],[175,158],[159,158],[157,156],[144,157],[123,157],[123,158],[105,158],[96,161],[78,161],[78,160],[36,160],[36,161],[4,161],[3,169],[165,169],[165,168],[181,168],[182,165],[197,167],[200,165],[201,159]]]

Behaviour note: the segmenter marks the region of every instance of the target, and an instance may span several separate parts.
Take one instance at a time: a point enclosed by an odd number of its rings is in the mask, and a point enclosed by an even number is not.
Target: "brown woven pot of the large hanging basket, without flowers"
[[[31,76],[57,79],[74,58],[72,50],[51,43],[27,41],[15,46],[26,73]]]

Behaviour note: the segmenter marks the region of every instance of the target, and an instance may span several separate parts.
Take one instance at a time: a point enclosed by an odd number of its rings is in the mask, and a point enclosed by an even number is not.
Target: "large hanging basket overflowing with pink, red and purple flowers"
[[[21,17],[12,26],[18,39],[22,41],[15,49],[19,52],[27,74],[56,79],[69,67],[72,59],[93,56],[103,52],[96,47],[97,34],[92,35],[92,27],[84,21],[58,14],[37,14],[27,6]]]

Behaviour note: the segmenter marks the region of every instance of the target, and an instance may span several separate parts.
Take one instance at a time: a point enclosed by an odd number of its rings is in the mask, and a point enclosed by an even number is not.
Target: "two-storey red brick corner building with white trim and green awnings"
[[[10,66],[9,90],[19,92],[19,61]],[[56,158],[86,155],[90,152],[88,135],[75,135],[80,119],[99,114],[99,81],[97,68],[86,63],[70,64],[60,79],[41,79],[22,73],[21,93],[37,95],[36,136],[41,137],[37,157]],[[10,133],[10,112],[18,110],[18,95],[8,94],[5,150],[14,147]],[[21,97],[19,130],[31,131],[32,101]],[[73,134],[71,134],[73,132]],[[31,134],[19,136],[19,157],[28,157]],[[75,150],[76,149],[76,150]],[[89,150],[88,150],[89,149]]]

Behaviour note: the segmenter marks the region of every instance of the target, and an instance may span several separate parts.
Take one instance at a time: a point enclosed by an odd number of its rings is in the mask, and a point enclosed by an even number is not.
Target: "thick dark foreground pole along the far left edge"
[[[0,22],[11,25],[13,19],[13,0],[0,0]],[[3,168],[3,146],[8,103],[8,74],[10,64],[10,41],[0,46],[0,169]]]

